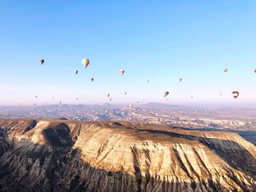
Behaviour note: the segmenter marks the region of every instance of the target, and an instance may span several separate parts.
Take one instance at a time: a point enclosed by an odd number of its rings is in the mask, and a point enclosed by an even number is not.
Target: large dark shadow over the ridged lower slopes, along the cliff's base
[[[135,174],[108,172],[83,161],[81,150],[52,150],[30,140],[10,141],[0,157],[0,191],[222,191],[211,180],[163,180],[155,173],[143,177],[135,164]],[[0,143],[1,144],[1,143]],[[28,147],[29,146],[29,147]],[[34,149],[39,150],[35,153]],[[136,153],[136,152],[135,152]]]

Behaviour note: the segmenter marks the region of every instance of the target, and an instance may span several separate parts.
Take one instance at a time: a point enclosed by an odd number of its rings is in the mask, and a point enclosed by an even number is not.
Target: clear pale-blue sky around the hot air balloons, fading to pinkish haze
[[[256,1],[0,1],[0,105],[256,106],[255,68]]]

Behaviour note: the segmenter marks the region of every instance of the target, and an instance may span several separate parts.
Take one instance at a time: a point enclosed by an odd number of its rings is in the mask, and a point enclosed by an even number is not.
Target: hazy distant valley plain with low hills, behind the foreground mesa
[[[61,104],[35,107],[0,107],[0,118],[67,118],[69,120],[125,120],[153,123],[203,131],[227,131],[239,134],[256,145],[256,110],[239,108],[200,108],[170,104]]]

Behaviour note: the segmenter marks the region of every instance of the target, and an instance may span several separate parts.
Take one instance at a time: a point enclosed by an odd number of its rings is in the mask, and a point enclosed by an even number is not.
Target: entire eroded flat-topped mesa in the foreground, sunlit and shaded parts
[[[256,147],[227,132],[0,120],[0,191],[256,191]]]

